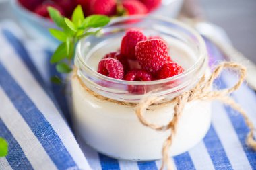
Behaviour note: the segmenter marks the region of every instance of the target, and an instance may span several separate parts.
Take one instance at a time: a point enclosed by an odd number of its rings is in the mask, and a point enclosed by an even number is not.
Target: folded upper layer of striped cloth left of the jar
[[[0,169],[90,169],[44,81],[45,55],[23,35],[15,24],[1,22],[0,136],[9,153],[0,158]]]

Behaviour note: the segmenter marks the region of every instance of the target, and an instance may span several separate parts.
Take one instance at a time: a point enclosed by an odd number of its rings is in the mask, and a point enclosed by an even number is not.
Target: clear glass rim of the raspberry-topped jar
[[[204,42],[203,38],[199,35],[199,33],[197,33],[195,30],[193,30],[193,28],[190,28],[186,24],[183,24],[182,22],[179,22],[176,19],[170,19],[168,17],[156,16],[156,15],[130,15],[130,16],[123,16],[123,17],[116,17],[115,19],[112,19],[110,21],[110,23],[107,26],[105,26],[104,28],[106,28],[108,26],[112,26],[113,24],[116,24],[118,22],[125,22],[126,20],[130,20],[130,19],[131,20],[133,20],[133,19],[156,19],[158,21],[168,22],[168,23],[180,26],[181,28],[184,28],[187,32],[189,32],[190,34],[195,36],[195,38],[198,40],[199,58],[197,58],[197,60],[193,63],[193,65],[191,67],[189,67],[188,69],[186,69],[185,71],[183,71],[183,73],[180,73],[179,75],[174,75],[174,76],[168,77],[166,79],[153,80],[153,81],[126,81],[126,80],[122,80],[122,79],[114,79],[112,77],[107,77],[105,75],[98,73],[94,69],[92,69],[83,59],[82,41],[84,39],[82,39],[82,40],[79,40],[79,42],[77,43],[76,57],[77,57],[77,60],[79,60],[79,64],[81,64],[82,67],[86,71],[90,71],[90,73],[92,75],[94,75],[95,77],[98,77],[99,79],[108,81],[110,83],[119,83],[119,84],[125,84],[125,85],[156,85],[156,84],[160,84],[160,83],[167,83],[170,81],[175,81],[177,79],[182,79],[183,77],[185,77],[186,75],[189,75],[191,72],[193,72],[195,69],[197,69],[197,67],[200,64],[205,62],[205,58],[206,58],[205,56],[207,56],[207,50],[206,50],[206,46],[205,46],[205,42]],[[79,68],[79,69],[81,69],[81,68]]]

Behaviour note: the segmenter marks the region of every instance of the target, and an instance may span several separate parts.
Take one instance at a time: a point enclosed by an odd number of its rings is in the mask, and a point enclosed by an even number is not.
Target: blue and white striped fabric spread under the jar
[[[0,169],[159,169],[161,161],[106,157],[77,136],[82,155],[58,112],[63,111],[69,122],[61,87],[48,81],[49,75],[55,74],[47,64],[49,52],[38,42],[24,39],[15,25],[5,23],[0,27],[0,136],[10,144],[9,155],[0,158]],[[210,42],[207,47],[215,60],[222,59]],[[216,85],[229,87],[235,80],[224,73]],[[243,85],[234,93],[234,99],[256,126],[255,92]],[[172,159],[175,168],[256,169],[256,152],[245,144],[248,129],[241,116],[221,103],[213,103],[213,108],[209,132],[197,146]]]

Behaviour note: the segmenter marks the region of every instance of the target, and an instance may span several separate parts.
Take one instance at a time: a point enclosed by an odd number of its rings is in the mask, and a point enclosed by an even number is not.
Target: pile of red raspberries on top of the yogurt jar
[[[126,81],[153,81],[183,73],[172,61],[167,43],[158,36],[147,38],[140,30],[128,30],[121,48],[106,54],[98,63],[98,73]]]

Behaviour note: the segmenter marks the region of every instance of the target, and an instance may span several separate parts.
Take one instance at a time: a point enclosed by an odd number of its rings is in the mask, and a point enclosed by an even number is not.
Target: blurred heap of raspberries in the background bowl
[[[120,16],[146,14],[160,6],[161,0],[18,0],[26,9],[49,18],[47,7],[57,9],[65,17],[71,17],[77,5],[86,16],[93,14]]]

